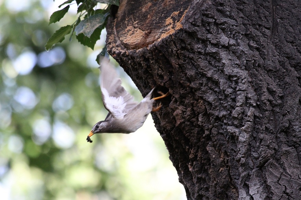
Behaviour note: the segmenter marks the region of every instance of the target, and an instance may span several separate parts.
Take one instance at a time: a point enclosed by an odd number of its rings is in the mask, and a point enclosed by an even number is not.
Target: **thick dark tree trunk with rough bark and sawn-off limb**
[[[146,95],[187,199],[300,199],[301,1],[123,0],[107,46]]]

